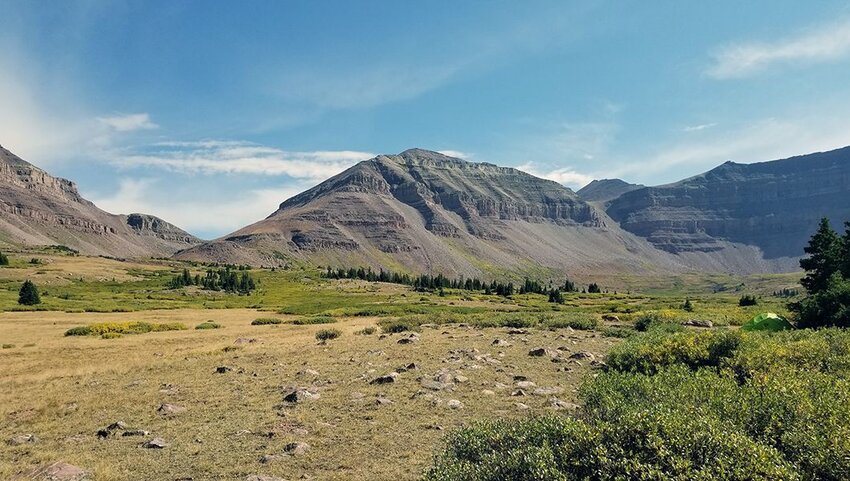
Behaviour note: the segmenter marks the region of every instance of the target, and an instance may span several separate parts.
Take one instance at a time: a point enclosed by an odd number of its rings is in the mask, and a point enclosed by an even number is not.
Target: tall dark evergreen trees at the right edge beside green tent
[[[797,314],[798,327],[850,327],[850,222],[839,236],[821,219],[800,260],[806,277],[800,280],[808,295],[789,308]]]

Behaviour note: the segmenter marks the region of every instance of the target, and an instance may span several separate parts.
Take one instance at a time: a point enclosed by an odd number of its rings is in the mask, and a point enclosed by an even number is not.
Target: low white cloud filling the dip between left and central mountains
[[[232,232],[266,218],[277,210],[281,202],[305,187],[253,189],[230,199],[196,196],[178,201],[170,198],[167,191],[157,184],[154,178],[123,178],[118,183],[118,191],[108,196],[95,196],[93,202],[108,212],[153,214],[189,232],[215,235]],[[178,204],[179,208],[175,208]]]

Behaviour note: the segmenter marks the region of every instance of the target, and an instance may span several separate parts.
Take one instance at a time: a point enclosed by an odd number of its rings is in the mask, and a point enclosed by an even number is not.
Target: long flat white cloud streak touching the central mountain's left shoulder
[[[151,151],[119,155],[122,167],[157,167],[181,173],[287,175],[326,179],[353,164],[374,157],[357,151],[288,152],[247,142],[206,140],[165,142]]]

